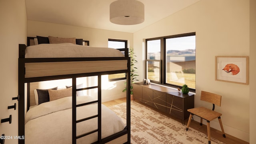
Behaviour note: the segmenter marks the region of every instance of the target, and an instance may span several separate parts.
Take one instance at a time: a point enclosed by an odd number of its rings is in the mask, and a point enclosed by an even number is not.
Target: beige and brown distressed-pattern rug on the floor
[[[126,123],[126,103],[109,107]],[[212,144],[225,144],[211,138]],[[208,144],[206,134],[131,102],[131,144]]]

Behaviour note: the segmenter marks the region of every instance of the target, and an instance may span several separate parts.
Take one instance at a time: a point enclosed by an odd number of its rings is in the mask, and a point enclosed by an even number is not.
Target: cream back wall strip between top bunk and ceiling
[[[108,47],[108,38],[130,40],[130,44],[133,44],[132,33],[38,22],[32,20],[28,20],[28,36],[83,38],[84,40],[89,40],[90,46],[94,47]]]

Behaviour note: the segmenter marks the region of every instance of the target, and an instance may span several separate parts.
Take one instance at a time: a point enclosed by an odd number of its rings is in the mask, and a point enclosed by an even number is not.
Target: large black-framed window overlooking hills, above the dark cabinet
[[[196,33],[146,39],[146,76],[172,87],[196,89]]]

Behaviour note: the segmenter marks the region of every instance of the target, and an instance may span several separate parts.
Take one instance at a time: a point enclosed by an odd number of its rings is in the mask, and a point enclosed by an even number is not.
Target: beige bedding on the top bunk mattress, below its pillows
[[[71,43],[28,46],[25,58],[124,57],[114,48],[96,48]]]

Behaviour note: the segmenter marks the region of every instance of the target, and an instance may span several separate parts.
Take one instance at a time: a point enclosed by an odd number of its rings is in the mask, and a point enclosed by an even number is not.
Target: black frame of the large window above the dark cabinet
[[[147,76],[147,62],[150,60],[148,59],[148,50],[147,50],[147,47],[148,47],[148,41],[150,40],[160,40],[160,64],[161,64],[161,69],[160,69],[160,82],[157,82],[157,81],[154,81],[154,80],[150,80],[151,82],[153,83],[156,83],[156,84],[161,84],[161,85],[164,85],[164,86],[170,86],[170,87],[173,87],[173,88],[182,88],[182,86],[178,86],[178,85],[174,85],[174,84],[168,84],[166,83],[166,39],[168,38],[179,38],[179,37],[185,37],[185,36],[196,36],[196,32],[190,32],[190,33],[184,33],[184,34],[175,34],[175,35],[171,35],[171,36],[162,36],[162,37],[157,37],[157,38],[148,38],[146,39],[146,69],[145,69],[145,76],[146,78],[148,77]],[[152,61],[152,60],[150,60]],[[153,61],[157,61],[157,60],[153,60]],[[189,88],[189,90],[191,92],[196,92],[196,89],[193,89],[193,88]]]

